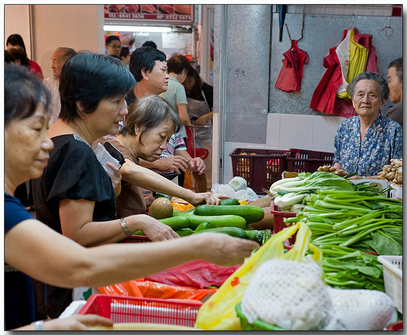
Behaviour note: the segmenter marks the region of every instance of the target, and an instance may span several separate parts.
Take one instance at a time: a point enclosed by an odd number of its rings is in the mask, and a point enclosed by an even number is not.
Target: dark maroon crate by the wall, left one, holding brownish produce
[[[286,157],[289,151],[234,149],[229,153],[232,158],[233,176],[244,178],[247,187],[250,187],[258,194],[265,194],[263,188],[269,189],[271,184],[281,179],[281,173],[286,169]],[[242,155],[241,152],[246,152],[247,155]]]

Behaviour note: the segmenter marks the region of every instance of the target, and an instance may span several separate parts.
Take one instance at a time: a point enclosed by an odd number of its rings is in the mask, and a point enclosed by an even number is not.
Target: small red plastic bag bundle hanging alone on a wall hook
[[[299,92],[303,79],[304,64],[308,64],[308,53],[298,48],[297,41],[291,41],[291,48],[282,54],[282,67],[275,87],[286,92]]]

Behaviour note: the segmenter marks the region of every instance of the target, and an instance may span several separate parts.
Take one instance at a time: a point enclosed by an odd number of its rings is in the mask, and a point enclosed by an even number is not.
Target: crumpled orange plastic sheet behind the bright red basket
[[[127,297],[159,298],[159,299],[192,299],[201,300],[218,289],[197,289],[194,287],[172,286],[144,280],[132,280],[99,287],[101,293],[123,295]]]

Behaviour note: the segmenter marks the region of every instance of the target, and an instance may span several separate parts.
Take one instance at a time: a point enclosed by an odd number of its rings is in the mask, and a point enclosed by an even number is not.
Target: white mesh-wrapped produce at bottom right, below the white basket
[[[393,301],[384,292],[329,287],[331,322],[324,330],[383,330],[393,313]]]

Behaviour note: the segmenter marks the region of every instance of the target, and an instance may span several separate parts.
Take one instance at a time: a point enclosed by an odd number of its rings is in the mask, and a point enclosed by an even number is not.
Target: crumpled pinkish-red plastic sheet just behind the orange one
[[[149,275],[146,280],[203,289],[208,286],[222,285],[239,267],[240,265],[226,267],[205,261],[193,261]]]

